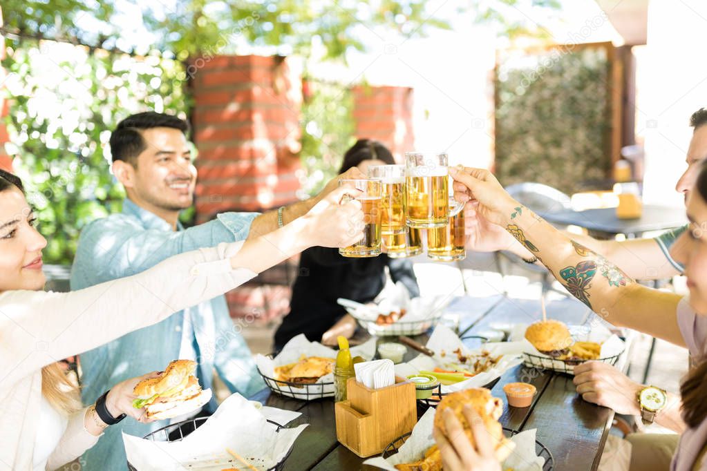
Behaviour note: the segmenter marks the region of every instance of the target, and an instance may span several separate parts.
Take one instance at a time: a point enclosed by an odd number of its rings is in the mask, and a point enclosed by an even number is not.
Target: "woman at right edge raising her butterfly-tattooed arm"
[[[457,201],[474,201],[481,217],[503,227],[544,266],[574,297],[615,326],[640,330],[675,345],[687,347],[695,366],[681,386],[682,418],[686,424],[672,471],[707,470],[707,169],[701,167],[694,191],[687,198],[691,224],[672,247],[670,255],[685,267],[689,297],[653,290],[634,282],[606,258],[571,240],[541,217],[515,201],[485,169],[450,169]],[[667,404],[665,393],[653,388],[653,415]],[[578,388],[578,393],[585,391]],[[438,427],[435,437],[446,471],[498,471],[493,448],[483,431],[473,427],[477,418],[468,411],[474,443],[464,434],[457,417],[444,417],[447,433]],[[450,431],[450,429],[452,431]],[[478,436],[477,436],[478,434]]]

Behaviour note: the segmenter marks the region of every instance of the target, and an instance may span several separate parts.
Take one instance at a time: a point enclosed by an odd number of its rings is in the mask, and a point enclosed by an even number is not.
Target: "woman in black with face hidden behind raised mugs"
[[[359,139],[344,154],[339,174],[358,167],[368,174],[370,165],[394,165],[390,150],[378,141]],[[337,298],[372,302],[385,287],[385,267],[393,282],[402,282],[410,297],[418,297],[412,263],[386,254],[370,258],[349,258],[338,249],[312,247],[303,251],[298,277],[292,289],[290,314],[275,333],[275,350],[279,351],[291,338],[303,333],[310,341],[336,345],[337,335],[351,338],[356,320],[337,304]]]

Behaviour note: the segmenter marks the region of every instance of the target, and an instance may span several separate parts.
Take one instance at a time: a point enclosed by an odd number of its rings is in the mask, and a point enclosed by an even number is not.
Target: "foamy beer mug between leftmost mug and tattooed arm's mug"
[[[405,166],[371,165],[368,178],[382,183],[380,231],[383,237],[405,234]]]

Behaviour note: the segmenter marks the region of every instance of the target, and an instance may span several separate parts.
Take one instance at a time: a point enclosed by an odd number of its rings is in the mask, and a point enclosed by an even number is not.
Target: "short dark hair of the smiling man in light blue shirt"
[[[137,156],[147,148],[141,131],[152,128],[179,129],[185,135],[189,132],[187,121],[171,114],[152,111],[133,114],[120,121],[110,135],[110,153],[113,162],[123,160],[136,167]]]

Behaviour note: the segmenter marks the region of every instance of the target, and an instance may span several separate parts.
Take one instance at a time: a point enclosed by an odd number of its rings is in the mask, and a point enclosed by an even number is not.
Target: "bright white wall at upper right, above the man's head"
[[[648,44],[639,59],[636,129],[645,136],[644,201],[682,207],[690,115],[707,106],[704,0],[650,0]]]

